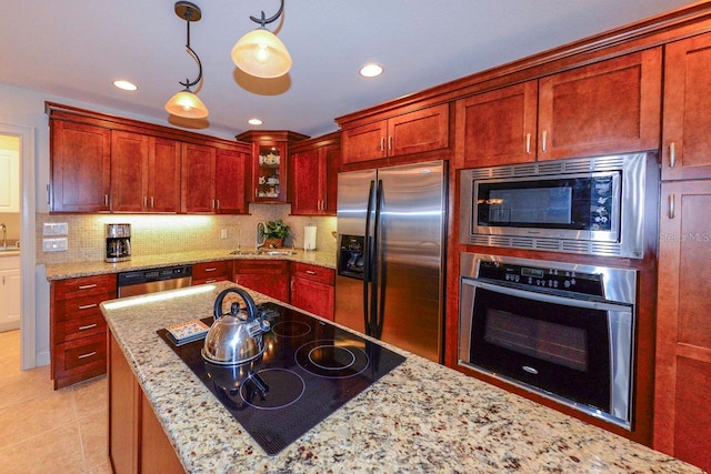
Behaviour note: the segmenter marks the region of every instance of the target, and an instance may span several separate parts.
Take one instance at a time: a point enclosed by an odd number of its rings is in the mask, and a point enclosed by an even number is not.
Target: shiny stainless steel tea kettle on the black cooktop
[[[229,293],[239,294],[246,304],[247,315],[234,302],[229,313],[222,313],[222,302]],[[269,331],[269,321],[257,316],[254,300],[242,289],[229,288],[214,302],[214,322],[204,337],[202,357],[213,364],[236,365],[250,362],[264,352],[262,334]]]

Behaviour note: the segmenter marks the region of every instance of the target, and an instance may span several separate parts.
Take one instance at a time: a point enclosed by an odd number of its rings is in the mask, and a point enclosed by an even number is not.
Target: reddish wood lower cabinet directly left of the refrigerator
[[[291,262],[290,303],[333,321],[336,272],[318,265]]]

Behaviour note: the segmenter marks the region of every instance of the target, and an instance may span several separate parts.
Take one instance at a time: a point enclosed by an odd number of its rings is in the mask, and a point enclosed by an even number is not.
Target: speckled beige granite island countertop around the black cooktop
[[[268,456],[157,334],[170,324],[211,315],[217,295],[234,284],[203,286],[203,293],[171,300],[136,296],[121,300],[136,303],[121,307],[102,303],[111,332],[188,472],[701,472],[392,346],[408,357],[404,363]],[[250,293],[258,304],[272,301]]]

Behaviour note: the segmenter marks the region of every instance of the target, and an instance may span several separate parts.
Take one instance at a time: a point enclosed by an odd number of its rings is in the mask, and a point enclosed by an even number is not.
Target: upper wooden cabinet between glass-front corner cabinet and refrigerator
[[[292,214],[336,215],[340,154],[339,133],[293,147],[289,164]]]

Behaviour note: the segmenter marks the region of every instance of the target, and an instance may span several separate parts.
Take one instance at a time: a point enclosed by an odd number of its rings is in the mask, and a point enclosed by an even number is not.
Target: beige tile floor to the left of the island
[[[0,333],[0,473],[111,473],[107,379],[52,390],[49,366],[20,370],[20,331]]]

